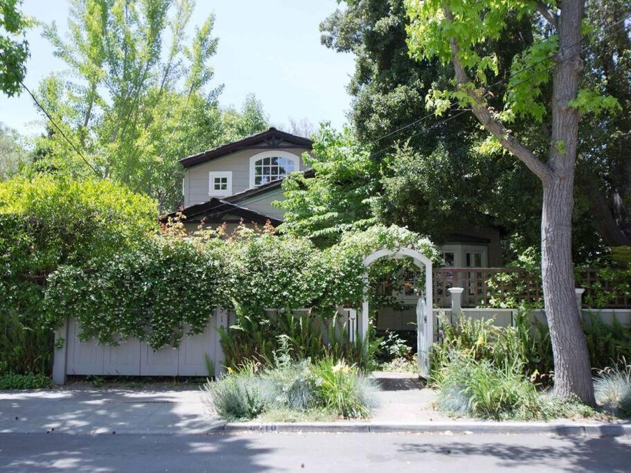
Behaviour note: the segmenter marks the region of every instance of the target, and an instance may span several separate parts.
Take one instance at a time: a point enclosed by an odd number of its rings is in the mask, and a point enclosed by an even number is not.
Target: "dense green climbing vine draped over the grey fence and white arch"
[[[332,314],[337,305],[359,306],[362,260],[382,247],[411,246],[438,258],[429,240],[397,226],[349,233],[328,249],[269,228],[240,227],[230,238],[222,236],[168,229],[89,267],[60,267],[48,278],[47,325],[54,328],[71,314],[82,339],[116,343],[136,337],[157,350],[177,346],[183,328],[202,332],[214,307],[233,310],[235,302],[250,312],[311,307]],[[375,263],[371,275],[390,269]]]

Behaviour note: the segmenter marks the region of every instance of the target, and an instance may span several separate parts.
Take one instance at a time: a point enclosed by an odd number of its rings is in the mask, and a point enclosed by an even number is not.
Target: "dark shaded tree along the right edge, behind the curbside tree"
[[[589,196],[596,227],[610,247],[631,246],[631,28],[625,0],[589,1],[587,19],[607,41],[593,41],[585,54],[585,85],[618,100],[619,111],[587,116],[579,127],[578,184]]]

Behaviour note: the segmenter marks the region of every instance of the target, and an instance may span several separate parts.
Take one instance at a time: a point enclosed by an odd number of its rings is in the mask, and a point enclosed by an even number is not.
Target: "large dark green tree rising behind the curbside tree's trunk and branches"
[[[322,42],[335,51],[355,55],[355,73],[348,85],[353,97],[349,112],[353,131],[360,143],[372,148],[375,159],[391,163],[391,166],[382,166],[384,185],[377,186],[380,196],[373,202],[377,219],[386,224],[408,225],[414,231],[428,234],[432,240],[441,242],[452,224],[463,226],[471,224],[472,220],[475,223],[474,220],[481,217],[478,223],[485,224],[491,220],[510,233],[506,260],[539,248],[542,199],[539,179],[521,161],[515,161],[501,147],[488,143],[488,134],[481,130],[479,122],[471,114],[452,114],[446,123],[442,123],[442,116],[427,116],[427,95],[432,98],[432,89],[449,87],[453,66],[436,58],[415,60],[409,56],[405,39],[410,19],[405,1],[357,0],[345,3],[344,9],[336,10],[322,22]],[[592,28],[606,24],[603,10],[609,3],[627,2],[590,2],[587,20]],[[610,10],[607,8],[607,18],[623,17],[622,10]],[[509,12],[506,23],[508,26],[499,32],[499,37],[478,47],[479,54],[497,55],[501,78],[510,75],[513,57],[533,44],[541,28],[540,24],[533,24],[528,15],[520,16],[515,11]],[[606,44],[609,46],[609,42]],[[588,57],[592,55],[590,53]],[[623,59],[627,56],[621,46],[616,46],[613,57]],[[624,69],[624,64],[624,60],[616,62],[620,78],[624,78],[622,74],[628,70]],[[587,69],[592,71],[591,66]],[[605,75],[606,69],[600,67],[590,73],[594,78],[592,85],[596,78]],[[589,85],[586,78],[583,82],[586,83],[582,87]],[[503,106],[506,88],[504,82],[494,83],[491,89],[493,96],[487,97],[490,105]],[[624,87],[616,89],[624,90]],[[549,85],[542,87],[540,92],[542,101],[551,97]],[[616,97],[624,109],[623,100]],[[606,146],[612,159],[614,154],[616,159],[625,159],[627,154],[618,150],[625,149],[620,148],[620,140],[628,134],[621,131],[614,141],[614,136],[608,136],[605,130],[608,130],[607,123],[611,120],[621,122],[628,115],[605,112],[599,117],[589,116],[589,122],[584,121],[580,136],[602,130],[590,140],[593,152],[589,156],[601,156]],[[419,121],[420,117],[423,120]],[[515,116],[511,127],[519,129],[522,141],[531,150],[543,154],[548,147],[546,134],[549,122],[549,115],[544,116],[542,122],[533,121],[529,116]],[[619,130],[625,129],[620,127]],[[580,150],[583,151],[583,145]],[[601,175],[600,188],[605,208],[613,208],[614,195],[609,189],[612,188],[610,181],[614,179],[614,173],[608,172],[611,167],[605,166],[602,159],[588,160],[584,151],[583,157],[578,163],[579,175]],[[585,166],[591,161],[593,166]],[[607,253],[603,242],[606,238],[595,232],[594,222],[598,221],[594,214],[595,199],[583,184],[583,179],[579,179],[577,184],[573,257],[579,263],[593,262]]]

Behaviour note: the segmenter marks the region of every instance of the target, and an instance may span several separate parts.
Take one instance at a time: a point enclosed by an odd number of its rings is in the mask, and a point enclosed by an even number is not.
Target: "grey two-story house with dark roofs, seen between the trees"
[[[310,170],[302,154],[311,152],[312,141],[269,128],[233,143],[181,159],[186,227],[203,221],[208,226],[225,223],[231,231],[240,220],[275,226],[283,211],[272,206],[282,200],[283,177]],[[175,214],[172,214],[175,215]],[[501,265],[500,231],[492,226],[462,229],[443,244],[448,266],[498,267]]]

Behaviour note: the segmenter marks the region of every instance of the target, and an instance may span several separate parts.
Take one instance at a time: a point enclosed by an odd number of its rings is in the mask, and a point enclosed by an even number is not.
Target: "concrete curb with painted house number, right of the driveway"
[[[228,422],[208,434],[553,434],[558,436],[631,436],[631,424],[547,424],[545,422]]]

